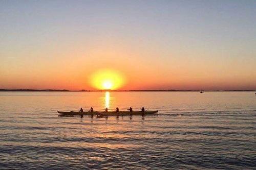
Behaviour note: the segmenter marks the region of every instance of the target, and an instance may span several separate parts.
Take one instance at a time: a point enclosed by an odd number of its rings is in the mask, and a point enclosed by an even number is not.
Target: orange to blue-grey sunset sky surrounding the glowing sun
[[[256,1],[2,0],[0,61],[5,89],[256,90]]]

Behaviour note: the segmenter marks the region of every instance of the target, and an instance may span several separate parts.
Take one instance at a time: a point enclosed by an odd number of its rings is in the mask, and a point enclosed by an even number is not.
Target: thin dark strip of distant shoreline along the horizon
[[[163,92],[169,92],[169,91],[255,91],[255,90],[56,90],[56,89],[0,89],[0,91],[46,91],[46,92],[52,92],[52,91],[61,91],[61,92],[102,92],[102,91],[119,91],[119,92],[129,92],[129,91],[144,91],[144,92],[150,92],[150,91],[163,91]]]

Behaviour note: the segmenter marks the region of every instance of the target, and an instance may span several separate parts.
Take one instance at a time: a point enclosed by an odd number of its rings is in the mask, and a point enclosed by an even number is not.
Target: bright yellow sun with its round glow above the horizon
[[[124,84],[124,77],[120,72],[111,69],[102,69],[92,74],[91,84],[97,89],[115,90]]]

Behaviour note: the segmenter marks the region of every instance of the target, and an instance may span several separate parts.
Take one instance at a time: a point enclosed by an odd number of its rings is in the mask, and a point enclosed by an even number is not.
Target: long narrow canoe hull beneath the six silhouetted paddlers
[[[130,111],[119,111],[119,112],[116,112],[116,111],[110,111],[110,112],[73,112],[73,111],[70,111],[70,112],[62,112],[62,111],[58,111],[59,114],[65,114],[65,115],[104,115],[104,116],[123,116],[123,115],[144,115],[144,114],[155,114],[157,113],[158,110],[155,110],[155,111],[145,111],[145,112],[142,112],[142,111],[133,111],[133,112],[130,112]]]

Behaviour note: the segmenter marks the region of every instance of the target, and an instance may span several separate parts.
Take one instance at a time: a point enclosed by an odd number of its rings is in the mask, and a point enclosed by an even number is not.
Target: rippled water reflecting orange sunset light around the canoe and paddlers
[[[57,110],[159,110],[58,117]],[[254,92],[0,92],[0,169],[255,169]]]

